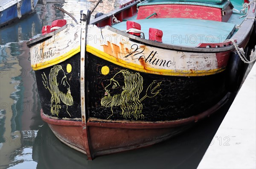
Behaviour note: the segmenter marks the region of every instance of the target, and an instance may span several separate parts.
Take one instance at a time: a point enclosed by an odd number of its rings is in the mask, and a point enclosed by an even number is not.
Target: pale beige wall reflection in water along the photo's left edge
[[[16,50],[15,50],[16,49]],[[15,93],[15,88],[19,85],[19,82],[15,81],[14,77],[8,75],[8,70],[13,68],[14,70],[20,68],[17,60],[15,60],[12,53],[17,51],[17,48],[10,47],[1,47],[0,48],[0,59],[1,59],[1,81],[0,81],[0,129],[1,129],[1,151],[0,151],[0,160],[1,167],[8,166],[11,161],[12,152],[15,149],[20,148],[20,145],[9,146],[9,139],[14,138],[13,131],[13,114],[12,114],[12,105],[17,102],[13,100],[10,96],[12,93]],[[10,56],[10,57],[9,57]],[[4,76],[6,74],[6,76]],[[7,97],[4,97],[7,96]],[[3,98],[4,97],[4,98]],[[3,131],[3,132],[2,132]],[[17,136],[18,138],[18,136]]]

